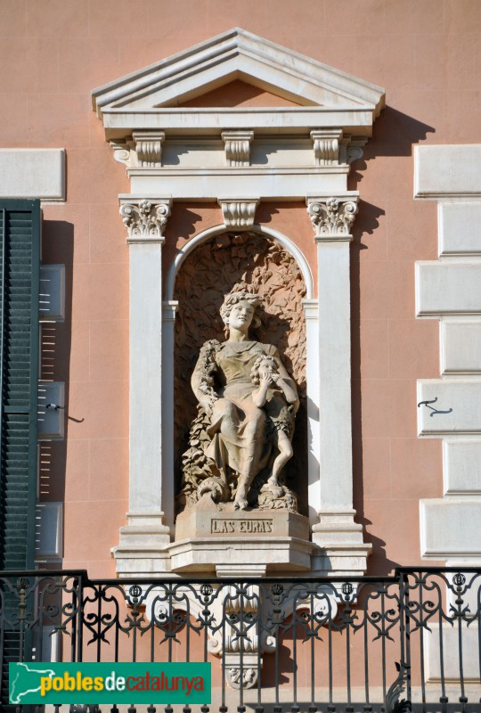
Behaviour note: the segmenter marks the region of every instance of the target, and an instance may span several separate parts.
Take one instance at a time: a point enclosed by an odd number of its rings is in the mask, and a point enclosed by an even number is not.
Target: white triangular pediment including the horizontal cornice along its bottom
[[[196,96],[228,83],[234,74],[293,105],[192,105]],[[190,106],[182,106],[186,101]],[[381,87],[239,28],[93,92],[94,110],[103,119],[107,138],[115,140],[144,127],[186,135],[218,127],[224,131],[259,128],[273,135],[343,127],[369,136],[384,103]]]

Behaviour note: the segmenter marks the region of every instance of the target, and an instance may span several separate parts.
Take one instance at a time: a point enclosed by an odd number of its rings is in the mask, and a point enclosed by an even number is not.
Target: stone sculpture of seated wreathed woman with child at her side
[[[207,341],[192,374],[192,389],[207,416],[205,455],[227,487],[237,477],[234,508],[245,510],[252,481],[267,469],[267,484],[279,495],[281,469],[292,457],[291,439],[298,392],[277,348],[249,338],[260,324],[260,299],[233,291],[221,316],[229,336]]]

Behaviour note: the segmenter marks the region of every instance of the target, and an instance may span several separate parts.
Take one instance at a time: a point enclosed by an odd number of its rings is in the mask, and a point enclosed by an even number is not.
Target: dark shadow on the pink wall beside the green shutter
[[[40,324],[40,381],[63,381],[65,400],[63,414],[64,438],[39,442],[38,499],[40,503],[63,503],[65,500],[65,471],[67,437],[69,432],[69,365],[72,314],[72,263],[74,254],[74,226],[63,220],[44,220],[42,223],[42,263],[65,265],[65,319],[43,321]],[[77,414],[73,414],[76,416]],[[48,562],[49,568],[61,566]]]

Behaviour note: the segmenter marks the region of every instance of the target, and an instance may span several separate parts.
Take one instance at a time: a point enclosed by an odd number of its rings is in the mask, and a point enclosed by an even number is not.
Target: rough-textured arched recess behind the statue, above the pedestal
[[[195,240],[195,239],[194,239]],[[282,244],[283,243],[283,244]],[[286,485],[298,496],[298,510],[307,504],[307,414],[306,414],[306,318],[307,286],[298,261],[282,242],[257,230],[235,233],[209,232],[195,240],[188,254],[177,262],[174,297],[177,305],[174,332],[174,471],[176,510],[194,504],[197,492],[193,479],[183,471],[183,454],[188,447],[190,426],[197,402],[190,380],[200,347],[207,340],[224,341],[224,324],[219,315],[224,295],[236,285],[255,291],[262,299],[262,324],[252,337],[274,344],[298,387],[300,407],[293,438],[294,457],[284,469]],[[303,256],[298,257],[303,260]],[[308,270],[308,267],[307,267]],[[310,273],[307,272],[309,289]],[[199,455],[201,449],[199,449]],[[201,476],[199,476],[201,477]],[[197,482],[197,477],[195,482]]]

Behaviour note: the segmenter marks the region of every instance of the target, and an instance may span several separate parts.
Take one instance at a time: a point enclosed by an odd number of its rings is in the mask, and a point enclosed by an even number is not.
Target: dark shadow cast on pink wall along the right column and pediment
[[[412,144],[427,138],[436,129],[417,119],[387,106],[381,112],[373,127],[372,139],[364,148],[363,159],[353,163],[349,175],[349,190],[355,191],[363,180],[364,171],[369,168],[368,161],[379,157],[412,155]],[[411,187],[408,186],[411,193]],[[369,245],[363,242],[363,235],[375,234],[379,227],[379,217],[385,215],[380,206],[365,201],[359,202],[359,213],[353,229],[354,241],[351,250],[351,359],[352,359],[352,414],[353,414],[353,487],[356,520],[363,524],[364,537],[372,544],[372,554],[368,560],[369,573],[389,574],[403,562],[395,562],[387,557],[384,545],[386,543],[366,531],[370,520],[364,517],[363,490],[363,421],[362,421],[362,390],[361,390],[361,286],[360,258],[361,250],[369,250]],[[400,533],[401,537],[402,533]],[[405,564],[405,562],[404,562]]]

